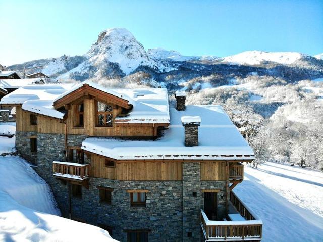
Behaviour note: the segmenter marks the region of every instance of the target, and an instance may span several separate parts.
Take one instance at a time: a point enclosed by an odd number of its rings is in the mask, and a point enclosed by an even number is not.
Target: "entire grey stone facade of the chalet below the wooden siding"
[[[37,136],[38,174],[52,187],[64,217],[71,216],[93,225],[109,226],[112,237],[127,241],[126,230],[148,230],[149,241],[200,241],[200,209],[203,209],[201,189],[219,189],[218,216],[225,217],[226,182],[201,181],[200,162],[183,162],[182,181],[120,181],[89,178],[89,189],[82,186],[82,197],[71,196],[69,206],[69,181],[52,175],[52,161],[65,159],[64,134],[17,132],[19,151],[28,155],[28,137]],[[86,135],[68,135],[68,146],[81,146]],[[24,155],[26,155],[24,154]],[[111,187],[112,204],[99,201],[97,186]],[[148,190],[146,207],[131,207],[127,190]]]

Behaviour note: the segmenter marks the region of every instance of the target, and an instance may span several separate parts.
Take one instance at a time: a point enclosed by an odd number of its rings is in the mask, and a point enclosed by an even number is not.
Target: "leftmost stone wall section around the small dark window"
[[[16,131],[16,149],[22,155],[24,159],[32,163],[33,165],[37,165],[37,155],[39,153],[39,147],[37,152],[31,152],[30,150],[30,137],[37,136],[36,132],[22,132]],[[38,141],[38,140],[37,140]]]

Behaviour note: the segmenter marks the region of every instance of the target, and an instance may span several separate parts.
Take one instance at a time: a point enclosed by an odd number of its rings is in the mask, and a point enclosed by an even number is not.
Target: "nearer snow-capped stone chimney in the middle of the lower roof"
[[[181,122],[185,128],[185,146],[198,146],[198,126],[200,116],[183,116]]]

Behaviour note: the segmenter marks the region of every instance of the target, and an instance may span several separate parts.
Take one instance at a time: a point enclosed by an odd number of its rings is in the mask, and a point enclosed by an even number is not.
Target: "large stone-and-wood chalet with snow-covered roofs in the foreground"
[[[23,86],[0,104],[15,105],[16,148],[63,216],[120,241],[260,241],[262,221],[233,191],[252,149],[221,106],[176,99],[85,81]]]

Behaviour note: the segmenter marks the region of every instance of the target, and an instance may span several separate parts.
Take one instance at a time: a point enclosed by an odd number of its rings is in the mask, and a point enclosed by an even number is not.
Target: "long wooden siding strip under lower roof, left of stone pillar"
[[[105,158],[91,154],[91,177],[114,180],[176,181],[182,180],[182,162],[116,162],[115,168],[104,166]]]

